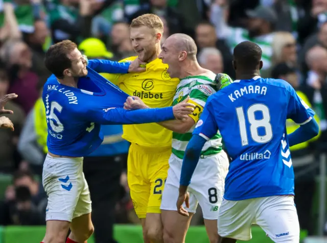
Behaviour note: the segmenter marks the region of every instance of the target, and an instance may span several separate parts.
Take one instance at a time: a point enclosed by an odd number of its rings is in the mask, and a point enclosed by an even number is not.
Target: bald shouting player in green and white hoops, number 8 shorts
[[[189,206],[188,215],[180,215],[178,213],[180,208],[176,206],[177,200],[184,202],[184,195],[179,196],[178,188],[186,145],[192,137],[192,131],[199,120],[206,100],[216,92],[216,74],[202,68],[196,55],[197,47],[194,40],[185,34],[174,34],[167,38],[159,54],[162,62],[169,65],[167,72],[170,77],[180,79],[173,104],[189,99],[188,102],[196,106],[193,114],[187,119],[159,123],[173,131],[170,168],[160,207],[165,243],[185,241],[186,232],[198,203],[202,209],[210,242],[217,243],[219,237],[218,207],[222,202],[229,165],[227,155],[222,150],[219,131],[216,136],[205,143],[202,149],[199,165],[195,169],[189,186],[190,205],[186,205]]]

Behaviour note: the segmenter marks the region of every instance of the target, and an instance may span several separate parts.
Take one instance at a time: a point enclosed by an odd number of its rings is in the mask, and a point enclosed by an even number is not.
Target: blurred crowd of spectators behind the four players
[[[135,55],[130,21],[154,13],[165,25],[162,41],[174,33],[192,36],[200,65],[215,73],[235,78],[233,47],[244,40],[259,44],[261,76],[286,80],[315,110],[319,137],[291,148],[300,226],[315,233],[317,156],[327,144],[327,0],[0,1],[0,98],[18,94],[5,107],[14,111],[7,116],[15,131],[0,130],[1,225],[45,224],[40,178],[48,133],[40,95],[50,76],[43,64],[47,48],[70,39],[88,58],[121,60]],[[297,126],[288,121],[288,132]],[[112,224],[138,223],[125,173],[129,144],[121,126],[102,130],[103,144],[84,160],[93,220],[96,225],[107,214]],[[193,224],[201,224],[200,218]],[[96,237],[97,230],[107,229],[96,227]]]

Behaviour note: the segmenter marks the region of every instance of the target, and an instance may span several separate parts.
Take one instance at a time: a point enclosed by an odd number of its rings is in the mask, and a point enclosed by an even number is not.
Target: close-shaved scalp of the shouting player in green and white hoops
[[[185,34],[173,34],[165,41],[166,45],[173,46],[176,52],[186,52],[189,58],[195,59],[198,48],[191,36]]]

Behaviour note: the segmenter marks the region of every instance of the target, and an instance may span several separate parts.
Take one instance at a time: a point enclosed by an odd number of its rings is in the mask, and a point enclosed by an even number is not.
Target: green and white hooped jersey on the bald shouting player
[[[186,146],[192,137],[192,132],[202,114],[206,100],[216,92],[215,77],[216,75],[210,71],[203,74],[203,76],[189,76],[181,79],[177,85],[173,105],[182,102],[188,96],[190,96],[189,103],[196,105],[193,114],[190,115],[195,120],[195,124],[190,131],[184,134],[173,132],[172,153],[179,159],[184,157]],[[211,140],[204,144],[200,158],[218,154],[221,150],[221,135],[218,131]]]

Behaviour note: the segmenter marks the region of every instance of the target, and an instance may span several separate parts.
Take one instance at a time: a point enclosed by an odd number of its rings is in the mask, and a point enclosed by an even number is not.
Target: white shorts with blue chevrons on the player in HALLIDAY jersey
[[[83,157],[55,158],[48,154],[43,165],[42,183],[48,195],[46,221],[72,222],[73,218],[91,212]]]

